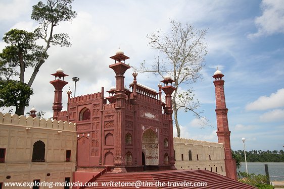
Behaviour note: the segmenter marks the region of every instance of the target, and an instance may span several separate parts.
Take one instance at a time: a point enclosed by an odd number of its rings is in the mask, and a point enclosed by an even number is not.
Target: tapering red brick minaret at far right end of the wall
[[[215,85],[215,96],[216,96],[216,115],[217,115],[217,136],[218,142],[223,143],[225,150],[225,168],[226,176],[232,179],[236,177],[236,165],[235,160],[232,158],[231,145],[230,145],[230,131],[228,125],[228,108],[226,108],[225,93],[224,93],[224,75],[217,69],[214,73],[213,82]]]

